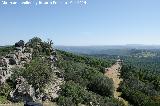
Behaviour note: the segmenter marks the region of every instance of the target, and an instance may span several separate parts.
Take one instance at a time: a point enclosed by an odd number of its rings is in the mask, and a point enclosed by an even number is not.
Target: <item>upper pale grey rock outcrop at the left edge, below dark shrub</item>
[[[24,52],[24,41],[20,40],[15,43],[15,50],[5,57],[0,58],[0,85],[5,83],[6,79],[11,76],[12,69],[23,67],[23,65],[32,59],[31,52]]]

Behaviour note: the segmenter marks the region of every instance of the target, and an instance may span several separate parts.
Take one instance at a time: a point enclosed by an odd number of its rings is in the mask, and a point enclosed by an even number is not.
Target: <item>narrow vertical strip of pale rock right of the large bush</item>
[[[50,44],[52,44],[50,42]],[[52,46],[50,46],[52,47]],[[52,81],[49,82],[46,85],[45,93],[42,96],[42,100],[50,100],[52,101],[53,99],[57,98],[59,96],[59,90],[61,89],[60,86],[64,83],[64,78],[62,72],[58,70],[55,66],[54,63],[57,61],[57,53],[54,48],[50,48],[51,50],[51,55],[49,57],[49,60],[51,61],[51,69],[53,71],[52,75]]]

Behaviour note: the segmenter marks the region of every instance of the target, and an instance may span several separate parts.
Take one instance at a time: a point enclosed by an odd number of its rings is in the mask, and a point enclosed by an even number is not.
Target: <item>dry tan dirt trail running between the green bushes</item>
[[[114,83],[114,97],[123,101],[126,106],[128,106],[128,102],[124,100],[121,96],[121,92],[118,92],[117,89],[119,88],[119,84],[121,81],[123,81],[122,78],[120,78],[120,70],[121,70],[121,64],[119,62],[116,62],[113,66],[110,68],[107,68],[105,70],[105,75],[109,78],[113,79]]]

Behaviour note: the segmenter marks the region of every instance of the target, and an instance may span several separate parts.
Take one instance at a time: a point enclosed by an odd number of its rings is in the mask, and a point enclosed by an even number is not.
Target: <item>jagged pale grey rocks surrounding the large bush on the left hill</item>
[[[44,93],[34,89],[32,85],[23,78],[19,77],[16,79],[16,88],[10,92],[11,101],[35,101],[35,100],[53,100],[57,98],[58,91],[60,90],[60,85],[64,83],[63,75],[61,72],[54,66],[54,63],[57,61],[56,50],[52,46],[52,41],[48,42],[50,45],[50,56],[48,59],[51,62],[51,69],[54,72],[53,79],[46,85]],[[37,44],[40,47],[40,43]],[[5,57],[0,58],[0,84],[5,83],[12,74],[12,69],[19,67],[24,67],[25,63],[29,63],[32,60],[33,48],[28,44],[25,44],[23,40],[15,43],[15,50]],[[42,56],[42,58],[46,59]]]

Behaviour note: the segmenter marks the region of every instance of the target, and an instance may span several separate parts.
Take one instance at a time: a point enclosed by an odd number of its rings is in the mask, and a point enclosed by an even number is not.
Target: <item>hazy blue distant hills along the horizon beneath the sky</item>
[[[56,46],[57,49],[78,53],[78,54],[105,54],[105,55],[133,55],[141,53],[142,50],[157,51],[160,46],[146,46],[146,45],[124,45],[124,46]]]

